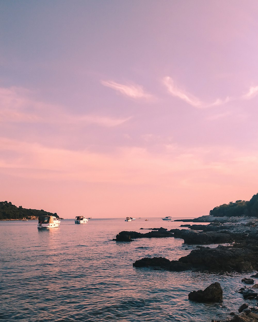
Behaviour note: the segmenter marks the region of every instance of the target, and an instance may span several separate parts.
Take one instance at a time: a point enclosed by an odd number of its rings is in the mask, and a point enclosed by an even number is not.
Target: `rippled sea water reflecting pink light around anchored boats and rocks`
[[[112,241],[123,230],[180,224],[150,218],[90,219],[76,225],[67,219],[60,228],[39,231],[36,221],[0,222],[0,320],[199,322],[236,312],[243,303],[236,290],[250,274],[134,268],[142,257],[177,260],[195,246],[173,237]],[[189,292],[215,281],[223,288],[223,303],[188,300]]]

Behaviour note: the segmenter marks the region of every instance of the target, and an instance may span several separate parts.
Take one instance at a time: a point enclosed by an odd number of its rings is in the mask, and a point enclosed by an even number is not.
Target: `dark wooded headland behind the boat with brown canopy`
[[[11,202],[0,201],[0,220],[37,220],[38,217],[42,215],[55,216],[56,218],[59,218],[57,213],[50,213],[43,209],[26,209],[22,206],[16,207]]]

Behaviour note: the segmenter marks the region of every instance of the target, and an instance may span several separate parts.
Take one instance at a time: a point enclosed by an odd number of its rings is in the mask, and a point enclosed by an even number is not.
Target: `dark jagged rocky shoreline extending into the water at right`
[[[207,225],[183,224],[181,226],[184,228],[169,231],[162,227],[150,228],[151,232],[147,233],[123,231],[117,234],[114,240],[133,242],[135,238],[174,237],[183,239],[186,245],[198,245],[190,254],[179,260],[168,260],[164,257],[142,258],[133,263],[134,267],[154,267],[170,271],[219,271],[222,273],[234,271],[252,273],[258,270],[258,218],[246,216],[212,217],[208,215],[181,221],[207,222]],[[200,246],[209,244],[218,244],[218,246],[215,248]],[[225,244],[227,245],[225,246]],[[251,277],[258,278],[258,273]],[[216,283],[216,281],[214,282]],[[253,284],[248,287],[245,285],[238,291],[243,294],[243,300],[258,300],[258,284],[254,284],[254,280],[248,277],[242,279],[242,282],[246,285]],[[205,296],[203,301],[205,301]],[[223,322],[258,322],[257,305],[258,303],[255,306],[250,306],[248,302],[239,303],[238,312],[232,312],[231,316]],[[212,320],[212,322],[218,321]]]

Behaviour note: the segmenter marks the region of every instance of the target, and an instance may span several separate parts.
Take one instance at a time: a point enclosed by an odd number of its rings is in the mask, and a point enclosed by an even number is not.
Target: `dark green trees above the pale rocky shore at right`
[[[249,201],[236,200],[229,204],[221,204],[210,211],[214,217],[252,216],[258,217],[258,194],[254,194]]]

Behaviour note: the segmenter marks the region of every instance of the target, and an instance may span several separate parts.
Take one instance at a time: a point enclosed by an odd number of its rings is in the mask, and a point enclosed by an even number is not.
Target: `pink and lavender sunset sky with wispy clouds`
[[[0,201],[193,217],[258,192],[257,0],[0,2]]]

